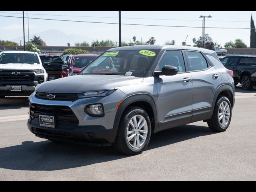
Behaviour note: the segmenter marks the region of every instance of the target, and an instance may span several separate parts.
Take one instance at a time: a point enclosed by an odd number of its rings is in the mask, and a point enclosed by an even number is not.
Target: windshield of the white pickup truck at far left
[[[27,63],[39,64],[39,59],[36,54],[32,53],[3,53],[0,55],[0,64],[7,63]]]

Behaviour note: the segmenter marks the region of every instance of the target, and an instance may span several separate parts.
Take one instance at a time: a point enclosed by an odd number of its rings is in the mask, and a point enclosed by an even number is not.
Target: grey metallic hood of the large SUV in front
[[[81,93],[112,90],[116,87],[138,84],[143,78],[119,75],[75,75],[44,82],[36,91],[47,93]]]

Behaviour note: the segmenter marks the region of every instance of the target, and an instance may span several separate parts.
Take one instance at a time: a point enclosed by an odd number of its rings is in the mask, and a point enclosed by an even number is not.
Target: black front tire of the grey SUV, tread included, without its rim
[[[142,146],[138,148],[133,148],[131,144],[128,142],[128,138],[127,138],[127,129],[129,126],[129,122],[135,115],[143,116],[148,125],[148,133],[147,133],[146,139],[144,140],[144,143],[142,144]],[[116,140],[113,146],[118,152],[123,154],[128,154],[128,155],[140,154],[148,146],[150,135],[151,135],[151,123],[150,123],[150,118],[147,112],[140,107],[130,106],[122,114],[122,117],[120,119],[120,124],[118,127],[118,132],[116,135]]]

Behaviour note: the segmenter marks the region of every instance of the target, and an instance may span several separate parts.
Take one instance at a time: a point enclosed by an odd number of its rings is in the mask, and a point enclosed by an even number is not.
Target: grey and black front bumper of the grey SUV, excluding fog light
[[[116,106],[120,100],[124,99],[125,94],[116,90],[109,96],[105,97],[92,97],[92,98],[82,98],[72,101],[57,101],[57,100],[44,100],[39,99],[32,94],[29,97],[29,111],[30,119],[28,120],[28,129],[36,134],[40,138],[46,138],[49,140],[61,140],[61,141],[71,141],[71,142],[90,142],[90,143],[113,143],[116,138],[117,128],[114,128],[114,119],[116,116]],[[104,117],[89,116],[84,112],[85,106],[88,104],[102,103],[104,106]],[[55,128],[40,126],[38,119],[34,118],[35,112],[31,105],[38,105],[45,108],[57,106],[68,107],[74,113],[74,116],[78,119],[79,123],[77,125],[68,124],[69,122],[61,121],[56,123]],[[65,109],[66,110],[66,109]],[[33,114],[34,113],[34,114]],[[41,114],[44,114],[42,112]],[[52,115],[54,114],[44,114]],[[64,117],[64,116],[62,116]],[[57,119],[58,119],[57,118]]]

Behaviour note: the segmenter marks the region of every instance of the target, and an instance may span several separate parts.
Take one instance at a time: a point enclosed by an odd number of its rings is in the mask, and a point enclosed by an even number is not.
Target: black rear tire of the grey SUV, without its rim
[[[220,108],[220,104],[222,104],[222,102],[227,102],[229,109],[230,109],[230,116],[229,116],[229,120],[228,123],[223,126],[218,117],[219,117],[219,108]],[[212,118],[210,118],[210,120],[208,120],[207,124],[209,126],[209,128],[213,131],[216,132],[222,132],[222,131],[226,131],[226,129],[228,128],[230,121],[231,121],[231,117],[232,117],[232,107],[230,104],[230,101],[228,100],[228,98],[226,96],[220,95],[218,96],[215,106],[214,106],[214,111],[212,114]],[[225,119],[226,120],[226,119]]]

